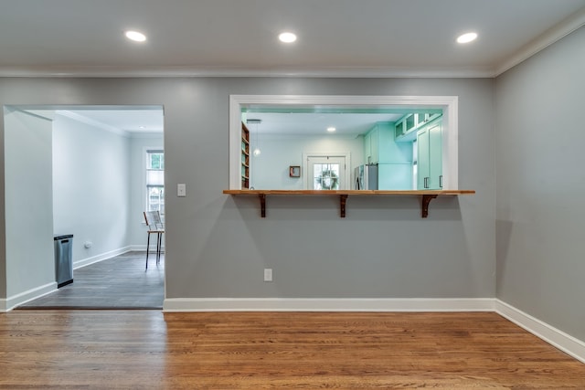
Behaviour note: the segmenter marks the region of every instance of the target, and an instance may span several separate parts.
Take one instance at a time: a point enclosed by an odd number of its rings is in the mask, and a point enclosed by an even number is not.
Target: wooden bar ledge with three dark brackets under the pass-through
[[[224,190],[226,195],[253,195],[258,196],[261,205],[261,217],[266,216],[267,195],[289,196],[339,196],[339,210],[342,218],[346,217],[346,201],[348,196],[420,196],[420,216],[429,216],[429,204],[431,200],[442,195],[473,195],[474,190],[405,190],[405,191],[380,191],[380,190]]]

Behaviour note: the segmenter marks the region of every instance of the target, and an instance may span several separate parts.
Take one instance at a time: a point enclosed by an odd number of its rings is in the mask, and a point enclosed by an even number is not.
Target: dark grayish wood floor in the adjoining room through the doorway
[[[73,271],[73,283],[18,309],[162,309],[165,255],[128,252]]]

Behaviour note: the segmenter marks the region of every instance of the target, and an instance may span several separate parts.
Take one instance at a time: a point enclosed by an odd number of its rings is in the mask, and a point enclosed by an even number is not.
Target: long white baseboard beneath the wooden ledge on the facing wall
[[[494,299],[171,298],[163,311],[494,311]]]

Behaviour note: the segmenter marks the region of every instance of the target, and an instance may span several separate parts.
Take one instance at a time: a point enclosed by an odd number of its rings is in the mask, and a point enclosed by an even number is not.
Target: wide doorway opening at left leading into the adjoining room
[[[162,309],[165,262],[144,271],[143,212],[152,195],[147,151],[164,153],[163,107],[10,106],[4,112],[10,307],[55,295],[62,300],[37,300],[38,306]],[[157,174],[156,206],[164,210],[164,173]],[[63,234],[73,235],[74,282],[56,290],[53,236]],[[81,286],[88,272],[91,286]]]

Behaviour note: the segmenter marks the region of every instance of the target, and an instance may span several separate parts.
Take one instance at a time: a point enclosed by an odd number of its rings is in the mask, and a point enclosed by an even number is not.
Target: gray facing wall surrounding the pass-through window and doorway
[[[493,92],[492,79],[0,79],[3,105],[165,107],[167,298],[494,297]],[[261,219],[257,199],[221,193],[229,94],[457,95],[459,183],[477,195],[433,200],[428,219],[415,197],[349,198],[345,219],[333,198],[273,197]]]

